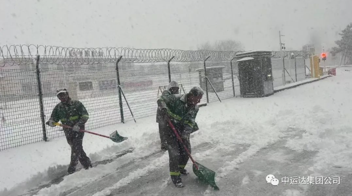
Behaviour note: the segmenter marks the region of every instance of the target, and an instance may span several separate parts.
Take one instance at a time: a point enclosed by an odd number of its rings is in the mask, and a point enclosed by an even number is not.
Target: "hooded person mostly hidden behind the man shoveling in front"
[[[167,86],[167,89],[162,92],[162,94],[178,94],[179,93],[179,85],[176,81],[171,81]],[[165,129],[167,130],[167,124],[165,120],[160,115],[160,109],[158,107],[157,110],[157,123],[159,123],[159,135],[160,135],[160,147],[161,150],[167,150],[167,143],[166,143],[166,136],[165,136]]]

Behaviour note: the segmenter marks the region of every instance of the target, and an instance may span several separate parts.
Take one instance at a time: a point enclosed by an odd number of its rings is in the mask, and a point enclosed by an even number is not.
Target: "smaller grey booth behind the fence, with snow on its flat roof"
[[[214,66],[214,67],[207,67],[207,76],[211,84],[213,84],[216,92],[224,91],[224,76],[223,76],[223,69],[225,66]],[[199,75],[199,85],[205,91],[205,73],[204,68],[196,69]],[[214,89],[208,84],[208,92],[214,92]]]

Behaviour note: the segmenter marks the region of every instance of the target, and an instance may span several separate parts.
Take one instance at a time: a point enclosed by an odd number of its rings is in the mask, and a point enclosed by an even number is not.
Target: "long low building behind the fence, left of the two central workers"
[[[115,63],[77,65],[71,60],[74,59],[41,59],[39,68],[43,97],[55,97],[56,90],[62,87],[75,99],[117,95]],[[5,58],[0,59],[0,64],[3,65],[0,66],[0,103],[38,97],[34,61]],[[167,65],[119,62],[119,72],[124,91],[146,90],[152,88],[153,78],[167,76]]]

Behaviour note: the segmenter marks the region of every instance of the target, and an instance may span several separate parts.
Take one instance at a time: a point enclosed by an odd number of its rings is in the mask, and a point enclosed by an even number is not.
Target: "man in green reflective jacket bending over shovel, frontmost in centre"
[[[195,117],[199,111],[198,103],[203,97],[203,90],[193,87],[189,93],[184,95],[171,95],[167,92],[162,93],[158,100],[161,115],[169,117],[176,128],[182,141],[191,153],[190,134],[198,130]],[[174,132],[168,126],[166,141],[169,153],[169,167],[172,182],[176,187],[183,187],[181,174],[187,175],[185,169],[189,156],[182,144],[177,141]]]

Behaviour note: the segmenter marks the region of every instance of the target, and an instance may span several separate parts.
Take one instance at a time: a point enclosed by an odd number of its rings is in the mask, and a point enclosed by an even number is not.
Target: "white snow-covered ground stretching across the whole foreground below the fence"
[[[239,165],[242,166],[240,170],[257,167],[256,176],[265,174],[265,178],[267,174],[263,173],[263,170],[270,167],[265,162],[259,160],[257,166],[250,167],[251,160],[261,157],[263,149],[272,150],[270,158],[273,160],[285,159],[284,151],[273,148],[280,142],[280,147],[293,152],[314,152],[308,157],[310,162],[304,164],[307,167],[305,169],[312,173],[319,170],[321,175],[326,176],[337,168],[352,169],[352,71],[345,70],[352,68],[338,68],[337,76],[284,90],[269,97],[231,98],[223,100],[223,103],[215,102],[200,108],[196,119],[200,130],[194,133],[191,139],[194,159],[215,170],[220,189],[229,192],[231,188],[228,188],[226,183],[231,176],[235,176],[234,172]],[[171,188],[173,185],[167,175],[167,152],[159,152],[157,126],[155,116],[150,116],[137,120],[137,123],[128,122],[93,130],[105,135],[118,130],[122,136],[129,137],[122,143],[114,143],[86,134],[83,146],[93,162],[112,159],[126,150],[133,152],[110,163],[66,176],[61,183],[43,187],[35,194],[55,196],[67,192],[74,195],[72,190],[91,187],[88,195],[114,195],[117,194],[116,190],[131,186],[138,179],[148,175],[162,179],[159,186],[153,187],[155,193],[167,187],[175,191]],[[292,133],[290,137],[287,136],[288,130]],[[26,190],[55,178],[67,168],[69,154],[70,147],[65,138],[1,151],[0,190],[6,190],[0,192],[0,195],[25,194],[28,193]],[[148,161],[143,162],[146,156]],[[191,166],[190,163],[189,165]],[[163,172],[160,173],[160,169]],[[277,172],[283,173],[280,168],[277,168]],[[302,173],[297,173],[301,176],[304,174],[303,170]],[[183,193],[195,188],[191,183],[194,178],[192,175],[187,178]],[[241,179],[242,185],[239,186],[261,186],[251,184],[251,178],[250,175],[244,175]],[[263,184],[266,185],[264,178]],[[104,180],[103,187],[97,186],[99,181]],[[187,182],[190,183],[189,188]],[[224,192],[215,193],[209,188],[198,189],[201,192],[199,194],[204,195],[230,195]],[[233,187],[232,191],[236,191],[236,188]],[[299,189],[291,188],[280,191],[287,196],[303,193]],[[82,193],[78,192],[76,195]]]

